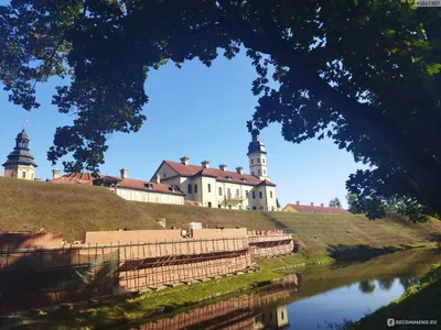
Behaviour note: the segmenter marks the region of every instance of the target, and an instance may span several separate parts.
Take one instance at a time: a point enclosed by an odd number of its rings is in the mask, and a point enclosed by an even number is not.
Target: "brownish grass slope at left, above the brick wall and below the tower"
[[[0,177],[0,231],[61,232],[68,241],[86,231],[157,229],[148,213],[109,190]]]

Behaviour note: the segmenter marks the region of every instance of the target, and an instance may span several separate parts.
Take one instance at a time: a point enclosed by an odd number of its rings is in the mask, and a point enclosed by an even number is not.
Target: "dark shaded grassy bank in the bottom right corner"
[[[345,324],[348,330],[387,329],[386,321],[394,320],[434,320],[437,324],[421,328],[441,328],[441,264],[432,266],[431,272],[420,279],[418,285],[408,288],[405,294],[377,311],[357,322]],[[420,329],[418,324],[400,324],[400,329]]]

